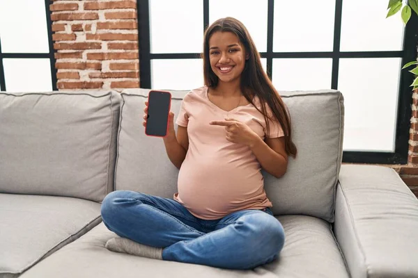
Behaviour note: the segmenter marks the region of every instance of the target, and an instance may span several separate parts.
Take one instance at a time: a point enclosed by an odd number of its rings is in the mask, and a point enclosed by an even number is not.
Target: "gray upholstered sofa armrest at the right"
[[[392,168],[341,165],[334,233],[351,277],[418,277],[418,199]]]

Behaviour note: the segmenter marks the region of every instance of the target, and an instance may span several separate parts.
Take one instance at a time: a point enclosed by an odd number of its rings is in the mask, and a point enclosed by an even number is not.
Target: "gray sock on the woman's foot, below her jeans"
[[[111,238],[104,247],[113,252],[162,260],[162,248],[143,245],[129,238]]]

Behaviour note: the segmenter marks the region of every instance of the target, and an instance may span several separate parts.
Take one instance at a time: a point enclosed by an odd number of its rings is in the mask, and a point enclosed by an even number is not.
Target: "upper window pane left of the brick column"
[[[49,53],[43,0],[0,0],[3,53]]]

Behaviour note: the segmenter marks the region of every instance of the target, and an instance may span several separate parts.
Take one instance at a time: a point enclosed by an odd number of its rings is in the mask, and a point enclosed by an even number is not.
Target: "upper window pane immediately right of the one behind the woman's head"
[[[334,17],[335,0],[274,1],[273,50],[332,51]]]

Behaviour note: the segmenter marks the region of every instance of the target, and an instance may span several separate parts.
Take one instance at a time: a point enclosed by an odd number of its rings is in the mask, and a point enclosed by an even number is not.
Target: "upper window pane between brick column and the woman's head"
[[[150,0],[151,53],[203,51],[203,1]]]

